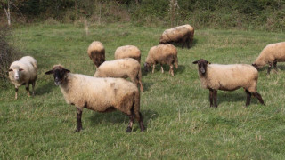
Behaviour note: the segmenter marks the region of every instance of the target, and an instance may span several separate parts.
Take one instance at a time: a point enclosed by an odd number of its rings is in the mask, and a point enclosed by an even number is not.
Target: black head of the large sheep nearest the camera
[[[60,85],[64,82],[64,80],[66,79],[66,74],[69,72],[69,69],[63,68],[61,65],[55,65],[53,66],[52,70],[45,72],[45,75],[53,74],[54,84]]]

